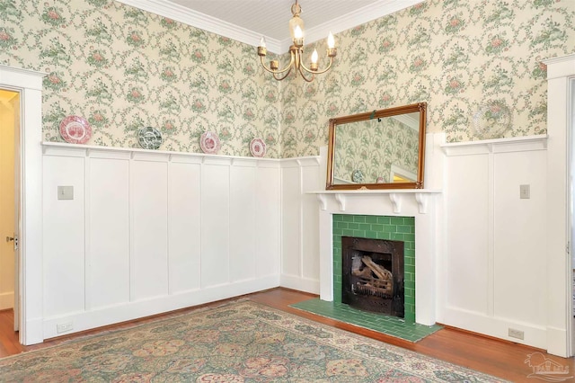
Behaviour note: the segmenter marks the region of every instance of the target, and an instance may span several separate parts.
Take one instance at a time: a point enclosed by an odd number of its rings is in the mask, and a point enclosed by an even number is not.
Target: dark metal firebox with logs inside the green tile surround
[[[341,236],[341,302],[404,316],[403,241]]]

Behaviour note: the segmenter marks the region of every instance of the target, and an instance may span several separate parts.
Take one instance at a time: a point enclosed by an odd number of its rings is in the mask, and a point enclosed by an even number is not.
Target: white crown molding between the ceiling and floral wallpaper
[[[117,0],[119,3],[127,4],[149,13],[155,13],[183,22],[204,31],[216,33],[220,36],[226,36],[230,39],[243,42],[253,47],[260,45],[261,34],[248,29],[238,27],[230,22],[224,22],[215,17],[199,13],[180,4],[173,4],[166,0]],[[353,13],[348,13],[329,22],[324,22],[314,28],[305,30],[305,43],[309,44],[318,40],[327,38],[330,31],[333,34],[350,28],[371,22],[380,17],[400,11],[414,4],[422,3],[422,0],[380,0],[374,4],[359,8]],[[303,15],[305,18],[305,15]],[[277,40],[264,36],[268,51],[277,54],[287,53],[292,41],[289,37],[284,40]],[[336,41],[337,44],[337,41]]]

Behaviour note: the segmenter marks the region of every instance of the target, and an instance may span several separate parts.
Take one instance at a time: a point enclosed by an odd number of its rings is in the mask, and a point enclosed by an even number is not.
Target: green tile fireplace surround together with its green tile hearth
[[[293,307],[331,317],[341,322],[369,328],[411,342],[432,334],[439,325],[415,323],[415,218],[333,214],[333,301],[319,298],[299,302]],[[405,316],[369,313],[341,303],[341,236],[403,241]]]

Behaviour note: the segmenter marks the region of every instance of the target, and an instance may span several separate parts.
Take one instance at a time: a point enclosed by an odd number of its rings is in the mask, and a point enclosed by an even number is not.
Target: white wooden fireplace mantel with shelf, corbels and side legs
[[[307,191],[320,200],[320,298],[333,300],[333,214],[415,218],[415,321],[436,319],[438,208],[442,192],[433,189]],[[440,210],[440,208],[439,208]]]

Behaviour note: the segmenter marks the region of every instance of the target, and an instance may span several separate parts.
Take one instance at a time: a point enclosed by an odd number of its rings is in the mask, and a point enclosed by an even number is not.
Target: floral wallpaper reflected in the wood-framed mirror
[[[393,183],[392,165],[417,177],[419,140],[418,130],[394,118],[338,125],[334,182]]]

